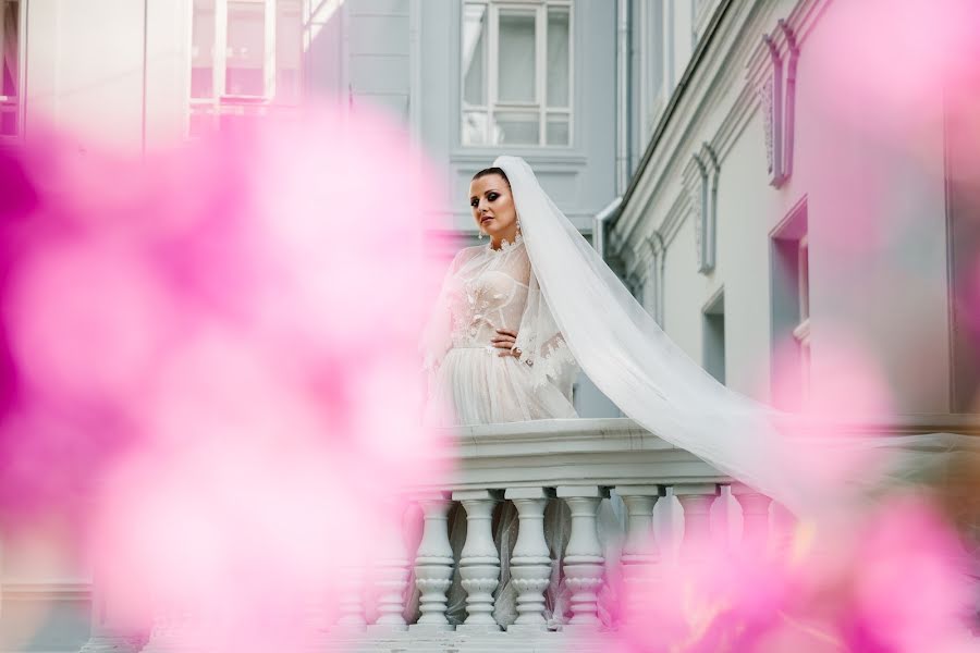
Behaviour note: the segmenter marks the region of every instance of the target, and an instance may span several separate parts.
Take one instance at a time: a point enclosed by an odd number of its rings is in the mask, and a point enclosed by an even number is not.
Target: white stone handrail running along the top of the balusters
[[[798,420],[798,421],[797,421]],[[907,415],[813,419],[787,415],[787,438],[895,435],[883,445],[929,449],[958,446],[980,435],[973,415]],[[951,433],[951,435],[945,435]],[[577,418],[480,424],[446,429],[456,445],[443,452],[453,469],[430,490],[505,489],[558,485],[727,484],[732,479],[694,454],[650,433],[629,418]],[[918,440],[916,435],[935,434]],[[908,438],[903,438],[908,436]],[[978,441],[980,445],[980,441]]]

